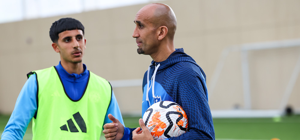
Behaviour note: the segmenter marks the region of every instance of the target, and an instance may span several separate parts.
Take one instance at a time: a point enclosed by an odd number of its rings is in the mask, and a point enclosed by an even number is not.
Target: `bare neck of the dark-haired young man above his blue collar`
[[[64,70],[67,71],[67,73],[76,73],[76,74],[81,74],[83,73],[84,69],[83,69],[83,64],[82,62],[79,63],[72,63],[72,62],[60,62],[61,66],[64,68]]]

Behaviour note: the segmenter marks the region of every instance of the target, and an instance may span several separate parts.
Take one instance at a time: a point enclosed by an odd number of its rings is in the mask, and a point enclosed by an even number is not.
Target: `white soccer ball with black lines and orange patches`
[[[152,104],[144,113],[143,121],[154,140],[177,137],[187,131],[187,115],[172,101]]]

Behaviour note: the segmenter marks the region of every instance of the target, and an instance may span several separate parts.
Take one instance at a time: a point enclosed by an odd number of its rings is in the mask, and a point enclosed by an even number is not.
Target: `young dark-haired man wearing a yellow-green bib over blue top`
[[[82,63],[84,26],[72,18],[55,21],[50,28],[57,66],[35,70],[16,101],[1,139],[23,139],[31,119],[33,139],[100,139],[103,124],[122,115],[110,83]]]

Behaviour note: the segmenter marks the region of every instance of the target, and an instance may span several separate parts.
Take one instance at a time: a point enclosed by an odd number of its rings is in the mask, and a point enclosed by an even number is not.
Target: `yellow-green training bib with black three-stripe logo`
[[[65,93],[55,67],[36,70],[38,111],[33,118],[33,140],[98,140],[110,104],[109,82],[92,72],[78,101]],[[32,73],[32,74],[33,74]]]

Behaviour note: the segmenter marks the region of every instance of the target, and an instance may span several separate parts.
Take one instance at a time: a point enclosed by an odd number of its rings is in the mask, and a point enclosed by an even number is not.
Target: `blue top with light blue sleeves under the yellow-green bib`
[[[82,96],[88,80],[89,73],[85,64],[83,64],[83,68],[84,72],[81,74],[69,74],[61,66],[60,62],[56,66],[62,83],[64,84],[66,93],[73,100],[78,100]],[[34,74],[30,76],[24,84],[17,98],[13,113],[11,114],[7,125],[4,128],[1,140],[23,139],[23,136],[27,130],[27,126],[37,111],[36,93],[37,81]],[[112,122],[110,119],[108,119],[108,114],[112,114],[124,125],[119,105],[114,93],[112,93],[110,105],[105,115],[104,124]]]

